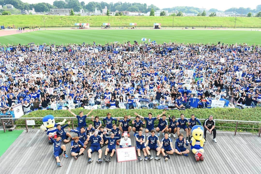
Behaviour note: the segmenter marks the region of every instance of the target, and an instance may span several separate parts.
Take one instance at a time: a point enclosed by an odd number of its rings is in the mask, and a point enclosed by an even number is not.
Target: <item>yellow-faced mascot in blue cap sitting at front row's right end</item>
[[[203,138],[204,128],[200,125],[195,125],[192,127],[191,132],[192,132],[193,137],[191,138],[191,142],[190,142],[191,147],[190,148],[195,155],[195,160],[203,161],[204,160],[203,146],[204,146],[204,142],[205,142],[205,139]]]

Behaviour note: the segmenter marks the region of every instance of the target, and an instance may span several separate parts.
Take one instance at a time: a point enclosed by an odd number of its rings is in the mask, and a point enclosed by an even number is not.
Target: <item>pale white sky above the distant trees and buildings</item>
[[[40,3],[40,2],[46,2],[46,3],[50,3],[53,4],[55,0],[22,0],[22,2],[28,2],[30,4],[32,3]],[[94,1],[94,2],[129,2],[129,3],[146,3],[147,5],[156,5],[157,7],[159,7],[160,9],[162,8],[171,8],[171,7],[176,7],[176,6],[190,6],[190,7],[197,7],[197,8],[206,8],[207,10],[211,9],[211,8],[216,8],[218,10],[226,10],[232,7],[250,7],[251,9],[255,9],[257,5],[261,4],[260,1],[254,0],[251,1],[251,3],[247,3],[247,1],[245,0],[218,0],[218,1],[210,1],[210,0],[185,0],[185,1],[171,1],[171,0],[91,0],[91,1],[85,1],[85,0],[79,0],[79,2],[84,1],[85,4],[88,4],[88,2]]]

